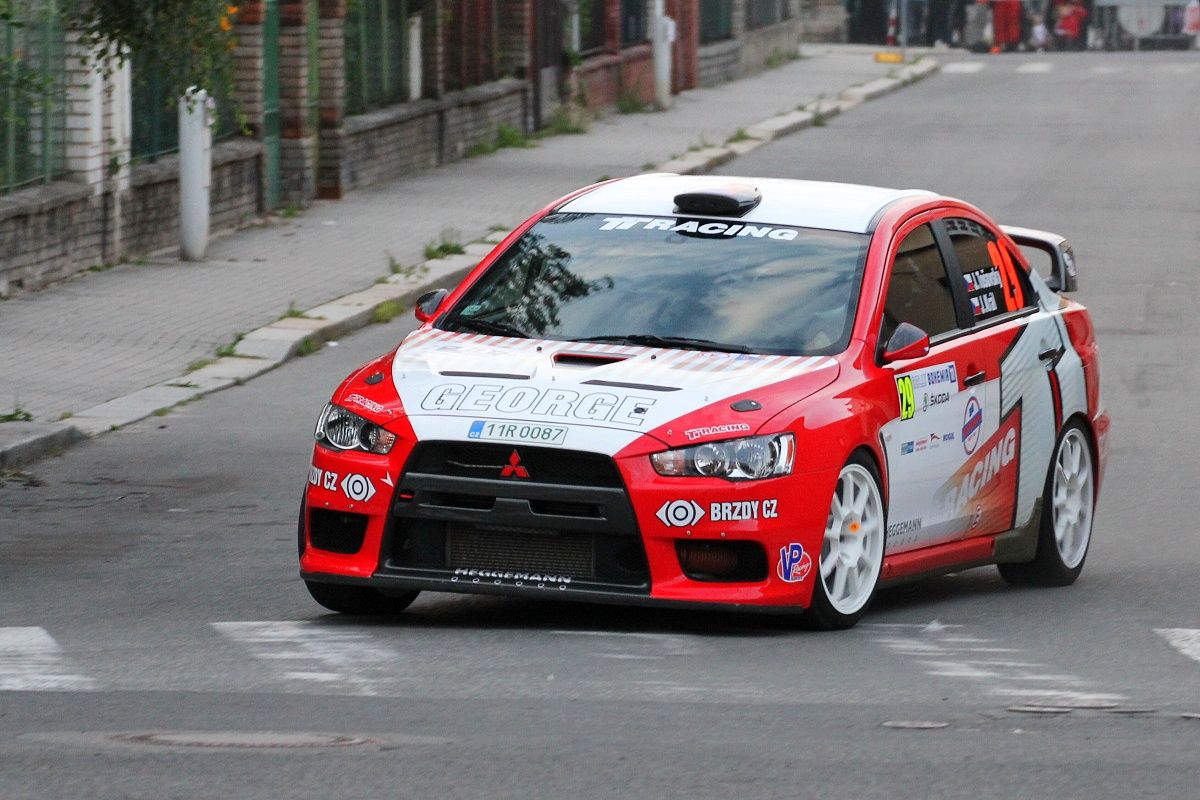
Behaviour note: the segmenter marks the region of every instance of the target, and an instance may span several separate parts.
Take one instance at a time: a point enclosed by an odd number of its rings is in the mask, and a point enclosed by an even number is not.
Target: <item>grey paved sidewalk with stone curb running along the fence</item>
[[[936,68],[928,59],[876,64],[875,49],[805,46],[800,60],[685,92],[665,113],[613,114],[586,134],[449,164],[221,236],[203,264],[168,254],[0,303],[0,419],[14,409],[32,416],[0,423],[0,468],[250,379],[298,348],[368,324],[382,302],[407,307],[428,285],[452,285],[485,247],[427,270],[389,270],[390,259],[420,265],[425,246],[443,236],[494,240],[497,228],[605,178],[706,172],[810,124],[798,108],[830,116]],[[725,146],[738,131],[752,138]],[[289,308],[324,319],[281,320]],[[233,353],[254,357],[218,359],[241,335]],[[214,363],[197,369],[202,361]]]

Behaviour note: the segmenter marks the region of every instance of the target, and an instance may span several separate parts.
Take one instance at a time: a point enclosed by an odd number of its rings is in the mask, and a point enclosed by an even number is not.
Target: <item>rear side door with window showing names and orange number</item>
[[[970,516],[966,536],[1024,525],[1042,494],[1061,411],[1054,366],[1063,342],[1019,257],[980,219],[941,222],[952,272],[972,315],[986,380],[979,390],[982,425],[962,439],[966,457],[937,499]]]

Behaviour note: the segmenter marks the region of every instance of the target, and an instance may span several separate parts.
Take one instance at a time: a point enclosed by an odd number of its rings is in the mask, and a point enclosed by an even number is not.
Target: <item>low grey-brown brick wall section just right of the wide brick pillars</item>
[[[337,137],[342,190],[457,161],[474,145],[494,142],[500,125],[528,131],[528,95],[527,82],[509,78],[450,92],[440,100],[346,118]]]

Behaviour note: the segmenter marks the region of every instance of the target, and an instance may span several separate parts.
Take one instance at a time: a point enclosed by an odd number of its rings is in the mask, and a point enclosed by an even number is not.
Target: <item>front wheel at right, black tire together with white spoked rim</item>
[[[805,622],[821,631],[853,627],[875,597],[887,534],[875,464],[854,453],[838,475]]]

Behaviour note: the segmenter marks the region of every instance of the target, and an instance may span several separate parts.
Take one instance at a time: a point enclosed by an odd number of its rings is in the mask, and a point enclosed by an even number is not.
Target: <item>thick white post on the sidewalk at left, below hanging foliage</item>
[[[192,86],[179,98],[179,254],[185,261],[203,261],[209,248],[212,108],[203,89]]]

